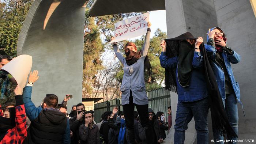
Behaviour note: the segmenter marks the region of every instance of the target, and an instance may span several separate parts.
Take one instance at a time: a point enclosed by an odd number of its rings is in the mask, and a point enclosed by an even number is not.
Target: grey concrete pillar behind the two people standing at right
[[[241,62],[232,65],[236,81],[240,83],[241,106],[239,111],[238,139],[256,138],[255,87],[256,87],[256,19],[252,6],[247,0],[165,0],[168,38],[176,37],[187,31],[195,37],[203,37],[210,27],[219,26],[227,35],[227,43],[241,55]],[[177,94],[171,93],[172,121],[175,125]],[[192,120],[186,131],[185,143],[196,143],[195,122]],[[210,110],[208,114],[209,143],[213,139]],[[172,126],[165,143],[173,143]]]

